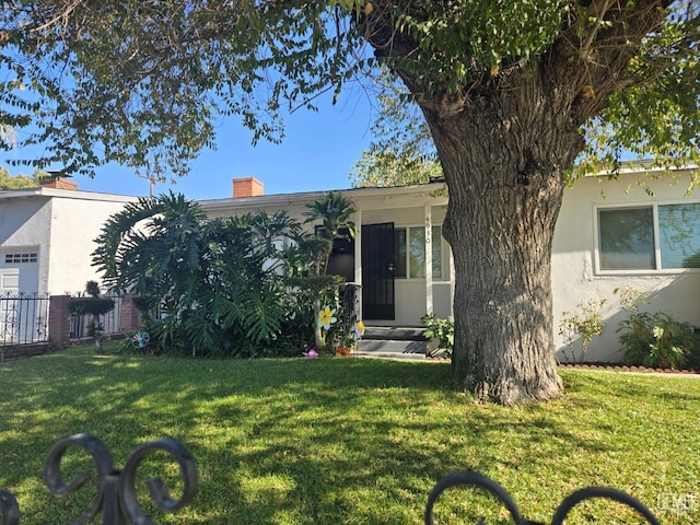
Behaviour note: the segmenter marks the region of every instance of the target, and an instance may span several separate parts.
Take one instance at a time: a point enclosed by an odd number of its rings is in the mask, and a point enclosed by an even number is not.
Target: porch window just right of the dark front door
[[[431,229],[431,254],[433,259],[433,279],[442,280],[443,242],[442,228]],[[425,278],[425,228],[409,226],[394,229],[394,277],[396,279]]]

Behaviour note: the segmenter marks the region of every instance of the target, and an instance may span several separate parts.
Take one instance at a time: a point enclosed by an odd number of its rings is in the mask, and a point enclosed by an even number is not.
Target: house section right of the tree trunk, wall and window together
[[[689,191],[697,168],[651,178],[643,168],[622,168],[617,180],[585,177],[564,191],[552,244],[555,328],[562,312],[606,300],[605,330],[587,361],[621,355],[616,330],[627,314],[616,289],[645,292],[645,310],[700,327],[700,188]],[[561,357],[565,341],[556,337]]]

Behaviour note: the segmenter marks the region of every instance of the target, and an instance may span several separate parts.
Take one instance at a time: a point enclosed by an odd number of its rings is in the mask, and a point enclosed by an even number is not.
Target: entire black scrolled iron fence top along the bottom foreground
[[[161,478],[150,478],[145,483],[153,504],[164,513],[177,513],[189,503],[198,488],[197,464],[192,455],[176,441],[163,439],[147,443],[138,447],[127,459],[124,469],[115,470],[112,456],[107,447],[96,438],[86,434],[78,434],[56,443],[46,459],[44,467],[44,481],[51,494],[61,498],[80,489],[90,478],[88,474],[75,475],[68,483],[61,477],[61,459],[70,446],[79,446],[86,451],[97,469],[97,493],[93,498],[90,509],[72,522],[74,525],[85,524],[95,516],[102,514],[103,525],[116,524],[143,524],[154,522],[144,513],[137,497],[137,470],[141,462],[151,452],[165,452],[179,465],[183,477],[182,495],[174,500],[170,497],[167,487]],[[433,510],[439,498],[447,490],[456,487],[470,486],[486,491],[495,497],[510,514],[515,525],[545,525],[541,522],[533,522],[522,516],[513,498],[503,487],[491,478],[474,471],[453,472],[441,479],[428,497],[424,512],[425,525],[434,525]],[[592,499],[607,499],[622,505],[627,505],[652,525],[661,525],[658,518],[639,500],[626,492],[606,487],[588,487],[578,490],[565,498],[551,520],[551,525],[564,523],[570,512],[580,503]],[[0,517],[2,525],[20,524],[20,506],[14,495],[5,490],[0,490]],[[479,524],[485,524],[481,520]]]

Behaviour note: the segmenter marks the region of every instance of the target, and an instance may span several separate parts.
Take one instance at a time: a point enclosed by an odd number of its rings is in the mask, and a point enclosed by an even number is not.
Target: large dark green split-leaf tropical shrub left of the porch
[[[145,329],[161,351],[294,353],[312,325],[310,294],[292,293],[285,277],[300,238],[284,212],[206,220],[198,205],[170,194],[109,219],[94,262],[107,285],[158,311]]]

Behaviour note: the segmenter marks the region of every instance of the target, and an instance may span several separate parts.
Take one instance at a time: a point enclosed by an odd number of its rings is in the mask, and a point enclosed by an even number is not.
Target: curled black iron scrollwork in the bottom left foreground
[[[77,434],[56,443],[46,458],[44,466],[44,481],[51,494],[57,498],[66,497],[79,490],[91,478],[90,474],[78,474],[65,482],[61,476],[61,459],[71,446],[85,450],[97,468],[97,493],[93,498],[90,509],[73,521],[71,525],[86,524],[91,518],[102,513],[103,525],[131,523],[152,525],[153,522],[143,512],[139,503],[136,488],[136,476],[139,465],[151,452],[163,451],[170,454],[179,465],[184,478],[182,497],[171,498],[161,478],[147,481],[151,500],[162,512],[175,513],[195,497],[198,486],[197,464],[192,455],[182,444],[173,440],[159,440],[147,443],[137,448],[127,459],[122,470],[115,470],[112,456],[107,447],[96,438]],[[0,491],[0,511],[2,525],[18,525],[20,510],[16,500],[10,492]]]

